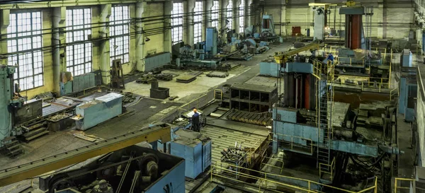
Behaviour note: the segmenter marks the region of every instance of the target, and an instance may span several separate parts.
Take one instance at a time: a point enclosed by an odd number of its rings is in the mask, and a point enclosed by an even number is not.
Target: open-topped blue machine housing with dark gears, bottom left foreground
[[[139,159],[130,162],[130,169],[127,172],[125,167],[118,168],[116,163],[131,156],[133,158],[137,156]],[[106,165],[111,167],[105,168]],[[95,172],[90,172],[93,170]],[[120,170],[120,175],[114,170]],[[42,176],[39,187],[42,191],[56,187],[54,192],[60,193],[86,192],[87,189],[91,192],[184,193],[184,170],[183,158],[135,145],[89,160],[86,165],[67,170],[60,175]],[[66,182],[71,182],[75,186],[57,186],[57,182],[65,177]],[[122,185],[119,185],[120,182],[123,182]]]

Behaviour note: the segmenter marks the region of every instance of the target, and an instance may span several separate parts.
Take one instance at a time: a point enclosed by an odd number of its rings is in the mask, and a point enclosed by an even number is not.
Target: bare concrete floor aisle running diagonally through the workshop
[[[171,88],[170,95],[179,95],[179,100],[170,102],[169,100],[142,98],[139,103],[128,108],[128,110],[132,112],[127,115],[123,115],[122,117],[115,117],[107,122],[103,122],[94,128],[86,130],[84,133],[94,134],[100,138],[108,139],[112,136],[140,129],[147,126],[147,124],[164,117],[169,112],[176,110],[176,108],[181,106],[183,103],[187,103],[188,101],[197,98],[199,95],[215,86],[219,86],[224,83],[232,84],[248,81],[259,74],[259,62],[266,59],[269,54],[287,50],[290,45],[290,42],[286,42],[282,45],[273,46],[267,53],[256,55],[248,62],[242,62],[242,66],[229,71],[231,76],[227,78],[209,78],[202,75],[192,83],[176,83],[174,81],[161,82],[159,83],[159,86],[169,86],[169,88]],[[126,88],[126,91],[133,91],[137,94],[147,96],[147,90],[149,90],[150,86],[132,82],[126,84]],[[73,129],[50,132],[47,136],[42,136],[39,139],[30,141],[28,144],[23,144],[26,151],[23,156],[19,156],[15,159],[0,156],[0,169],[11,168],[16,165],[38,160],[45,156],[52,156],[57,153],[63,153],[65,151],[70,151],[90,144],[89,141],[84,141],[83,139],[78,139],[72,136],[74,132],[75,131]],[[28,184],[28,182],[26,183]],[[6,190],[8,190],[8,192],[17,192],[17,187],[24,186],[9,185],[7,187],[0,187],[0,192],[6,192]]]

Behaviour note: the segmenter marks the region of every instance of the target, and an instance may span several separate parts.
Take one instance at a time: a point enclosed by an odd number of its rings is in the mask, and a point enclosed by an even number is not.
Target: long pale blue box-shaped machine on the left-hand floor
[[[109,93],[75,108],[77,129],[86,130],[123,113],[123,95]]]

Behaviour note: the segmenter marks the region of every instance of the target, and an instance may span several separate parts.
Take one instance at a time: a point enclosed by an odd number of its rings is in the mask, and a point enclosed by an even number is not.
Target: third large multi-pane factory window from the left
[[[130,16],[128,6],[113,6],[109,18],[109,52],[111,66],[114,59],[121,59],[121,63],[130,62]]]

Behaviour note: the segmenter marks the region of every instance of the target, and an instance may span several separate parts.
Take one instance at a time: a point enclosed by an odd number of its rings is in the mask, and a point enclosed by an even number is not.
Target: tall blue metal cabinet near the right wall
[[[402,67],[399,81],[399,113],[407,122],[414,121],[415,101],[417,96],[416,68]]]

